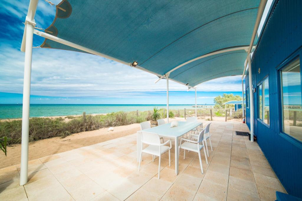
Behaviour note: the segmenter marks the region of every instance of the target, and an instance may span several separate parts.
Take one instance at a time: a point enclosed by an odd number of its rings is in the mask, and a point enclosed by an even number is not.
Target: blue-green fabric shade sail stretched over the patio
[[[45,32],[164,75],[201,55],[249,46],[259,2],[63,0]],[[41,47],[82,52],[49,39]],[[195,61],[194,65],[200,63],[195,67],[189,63],[173,71],[171,78],[195,86],[242,74],[246,53],[231,53]]]

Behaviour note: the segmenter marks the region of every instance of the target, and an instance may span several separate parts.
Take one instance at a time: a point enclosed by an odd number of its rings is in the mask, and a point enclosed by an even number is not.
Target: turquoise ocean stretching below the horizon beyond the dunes
[[[30,117],[64,115],[102,114],[118,111],[147,111],[153,107],[166,108],[166,105],[76,105],[76,104],[31,104]],[[169,109],[193,109],[192,105],[169,105]],[[22,104],[0,104],[0,118],[21,118]]]

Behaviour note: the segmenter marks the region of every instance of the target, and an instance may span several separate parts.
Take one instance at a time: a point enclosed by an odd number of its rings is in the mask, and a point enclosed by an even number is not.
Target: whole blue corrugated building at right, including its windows
[[[253,112],[254,134],[260,148],[287,192],[300,198],[301,54],[302,1],[276,0],[251,58],[252,97],[246,75],[246,117],[251,128]]]

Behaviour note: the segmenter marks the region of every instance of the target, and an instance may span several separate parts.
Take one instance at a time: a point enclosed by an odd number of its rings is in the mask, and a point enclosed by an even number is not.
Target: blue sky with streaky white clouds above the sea
[[[53,0],[59,3],[59,0]],[[20,51],[29,0],[2,0],[0,8],[0,103],[21,103],[24,52]],[[47,28],[55,7],[39,1],[37,27]],[[33,46],[43,38],[34,35]],[[31,103],[165,104],[165,80],[155,75],[86,53],[33,49]],[[170,82],[171,104],[192,104],[194,92]],[[198,104],[213,104],[223,93],[241,96],[241,76],[224,77],[198,85]]]

